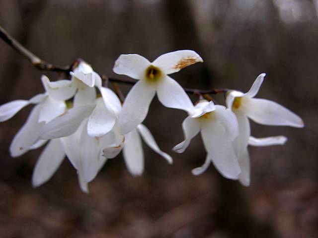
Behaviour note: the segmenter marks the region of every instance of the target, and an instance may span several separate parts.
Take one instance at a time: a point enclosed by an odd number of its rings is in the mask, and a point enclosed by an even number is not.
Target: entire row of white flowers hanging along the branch
[[[35,105],[14,136],[10,154],[17,157],[46,144],[33,171],[33,186],[50,179],[67,156],[77,170],[84,192],[88,192],[88,182],[96,177],[107,159],[116,157],[121,150],[128,171],[134,176],[141,175],[144,170],[141,138],[172,164],[172,158],[159,149],[150,130],[142,124],[157,93],[165,107],[188,114],[182,123],[185,139],[173,147],[175,152],[184,152],[191,139],[201,132],[207,157],[192,173],[203,173],[212,162],[224,177],[249,185],[247,146],[284,144],[286,138],[250,136],[248,118],[260,124],[294,127],[302,127],[303,121],[277,103],[254,98],[264,73],[247,93],[228,91],[227,107],[207,100],[193,105],[184,89],[168,75],[202,61],[190,50],[167,53],[153,62],[139,55],[121,55],[113,71],[139,80],[123,105],[112,90],[102,86],[101,77],[84,61],[70,72],[71,80],[51,82],[43,75],[45,93],[0,106],[0,121],[5,121],[27,105]]]

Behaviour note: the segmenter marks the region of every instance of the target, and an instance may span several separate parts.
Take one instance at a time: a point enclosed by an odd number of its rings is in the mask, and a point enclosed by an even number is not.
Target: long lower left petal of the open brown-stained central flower
[[[119,115],[118,124],[122,134],[127,134],[143,122],[155,94],[155,88],[149,86],[143,80],[132,87]]]

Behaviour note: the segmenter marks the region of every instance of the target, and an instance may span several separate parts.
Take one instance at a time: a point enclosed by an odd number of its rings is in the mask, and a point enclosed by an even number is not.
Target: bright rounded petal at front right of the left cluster
[[[96,100],[96,107],[88,118],[87,133],[90,137],[107,134],[114,126],[116,115],[109,112],[102,98]]]

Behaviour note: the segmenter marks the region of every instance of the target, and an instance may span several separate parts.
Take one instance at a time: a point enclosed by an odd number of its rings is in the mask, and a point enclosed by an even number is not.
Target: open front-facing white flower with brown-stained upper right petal
[[[140,55],[121,55],[115,61],[113,71],[140,80],[132,87],[123,105],[119,118],[121,133],[132,131],[146,118],[156,92],[165,107],[181,109],[189,115],[198,116],[194,115],[193,104],[183,88],[168,76],[196,62],[203,60],[190,50],[167,53],[153,62]]]

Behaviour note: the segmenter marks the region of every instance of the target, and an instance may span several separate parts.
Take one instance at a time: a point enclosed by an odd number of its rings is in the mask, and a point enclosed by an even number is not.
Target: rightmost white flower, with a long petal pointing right
[[[227,107],[235,113],[239,123],[239,137],[234,144],[242,171],[239,181],[246,186],[250,183],[248,143],[255,146],[265,146],[283,144],[282,142],[285,143],[286,141],[285,137],[268,137],[263,139],[250,137],[248,118],[264,125],[304,126],[303,120],[285,107],[273,101],[254,98],[265,75],[265,73],[260,74],[247,93],[231,90],[226,98]]]

